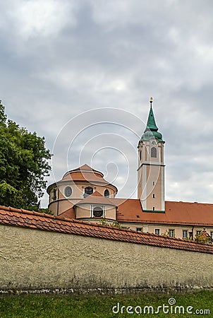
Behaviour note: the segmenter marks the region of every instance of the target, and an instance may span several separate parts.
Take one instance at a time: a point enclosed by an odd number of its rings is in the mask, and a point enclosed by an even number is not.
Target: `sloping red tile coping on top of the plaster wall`
[[[132,230],[105,227],[103,225],[84,223],[68,218],[56,218],[47,214],[20,210],[18,208],[7,208],[5,206],[0,206],[0,224],[213,254],[212,245],[202,245],[174,237],[164,237],[150,233],[138,233]]]

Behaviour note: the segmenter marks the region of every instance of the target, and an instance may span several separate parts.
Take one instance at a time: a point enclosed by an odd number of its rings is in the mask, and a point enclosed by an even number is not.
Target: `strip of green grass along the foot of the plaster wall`
[[[162,309],[156,314],[128,314],[126,307],[140,306],[143,310],[145,306],[154,307],[169,305],[169,298],[176,300],[177,306],[183,306],[185,311],[188,306],[192,306],[193,314],[164,313]],[[1,318],[107,318],[107,317],[213,317],[213,291],[201,291],[199,293],[181,295],[113,295],[113,296],[93,296],[93,295],[7,295],[0,297],[0,317]],[[112,307],[119,302],[119,313],[113,313]],[[173,311],[175,306],[173,305]],[[121,313],[121,307],[123,314]],[[136,310],[140,308],[136,308]],[[164,310],[171,311],[171,305]],[[115,308],[116,310],[116,308]],[[131,309],[129,309],[132,311]],[[210,314],[194,314],[195,310],[209,310]]]

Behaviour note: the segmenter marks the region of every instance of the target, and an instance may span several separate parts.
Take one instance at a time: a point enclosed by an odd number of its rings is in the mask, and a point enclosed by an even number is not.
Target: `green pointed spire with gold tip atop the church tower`
[[[158,128],[154,119],[154,113],[152,110],[152,97],[150,98],[150,114],[147,120],[147,126],[144,134],[142,134],[141,141],[157,139],[158,141],[163,141],[162,134],[158,132]]]

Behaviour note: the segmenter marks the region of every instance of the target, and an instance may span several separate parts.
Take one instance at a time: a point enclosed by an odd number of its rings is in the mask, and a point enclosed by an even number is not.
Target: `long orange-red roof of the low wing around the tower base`
[[[118,222],[162,223],[213,227],[213,204],[166,201],[166,213],[142,211],[139,199],[114,199]],[[139,216],[139,218],[137,217]]]

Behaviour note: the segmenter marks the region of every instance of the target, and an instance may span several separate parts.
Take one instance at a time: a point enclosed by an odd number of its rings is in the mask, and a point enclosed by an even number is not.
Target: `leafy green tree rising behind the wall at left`
[[[51,158],[44,137],[7,120],[0,100],[0,204],[17,208],[38,206]]]

